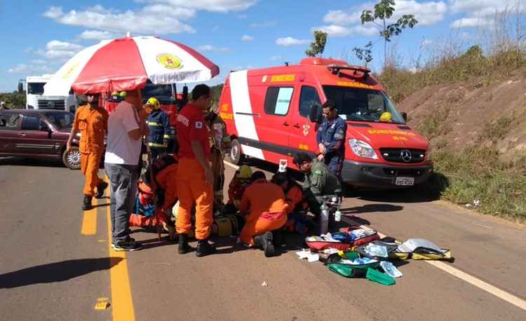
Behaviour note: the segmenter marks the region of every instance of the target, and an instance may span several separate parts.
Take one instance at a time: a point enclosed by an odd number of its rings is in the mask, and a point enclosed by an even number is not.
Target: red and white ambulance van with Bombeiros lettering
[[[318,57],[229,74],[219,111],[233,139],[231,161],[292,164],[299,151],[314,156],[326,100],[347,123],[344,182],[384,189],[426,181],[433,170],[428,140],[406,124],[370,70]],[[380,119],[386,112],[389,122]]]

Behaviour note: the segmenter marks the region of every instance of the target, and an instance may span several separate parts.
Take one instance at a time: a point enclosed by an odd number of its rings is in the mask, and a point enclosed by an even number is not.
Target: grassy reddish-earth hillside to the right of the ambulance
[[[526,55],[518,47],[461,55],[379,80],[431,142],[426,193],[486,214],[526,221]]]

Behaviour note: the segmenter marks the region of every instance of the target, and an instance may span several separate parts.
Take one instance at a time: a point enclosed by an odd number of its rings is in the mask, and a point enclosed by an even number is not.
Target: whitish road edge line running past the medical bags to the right
[[[227,161],[224,161],[224,163],[234,169],[238,169],[239,166],[234,165],[232,163],[229,163]],[[358,225],[358,224],[357,224]],[[366,230],[372,230],[369,226],[360,225],[360,228],[364,228]],[[386,235],[377,232],[380,238],[385,238]],[[450,273],[453,276],[456,276],[457,278],[468,282],[471,285],[474,285],[478,287],[479,289],[483,289],[485,292],[493,294],[494,296],[497,296],[499,299],[502,299],[508,303],[513,304],[514,306],[517,306],[518,308],[521,308],[522,310],[526,310],[526,301],[520,299],[518,296],[514,296],[511,293],[508,293],[504,290],[499,289],[498,287],[494,287],[493,285],[490,285],[490,283],[484,282],[483,280],[480,280],[478,278],[475,278],[472,275],[469,275],[468,273],[460,271],[458,268],[454,268],[448,264],[445,264],[441,261],[426,261],[427,264],[431,264],[432,266],[435,266],[436,268],[440,268],[440,270]]]

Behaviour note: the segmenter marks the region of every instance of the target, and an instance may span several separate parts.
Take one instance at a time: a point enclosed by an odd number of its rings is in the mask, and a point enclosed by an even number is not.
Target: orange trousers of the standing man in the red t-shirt
[[[181,158],[177,170],[177,194],[179,208],[175,223],[177,233],[188,234],[191,230],[191,208],[196,205],[196,239],[210,236],[213,224],[213,185],[205,182],[205,172],[196,159]]]

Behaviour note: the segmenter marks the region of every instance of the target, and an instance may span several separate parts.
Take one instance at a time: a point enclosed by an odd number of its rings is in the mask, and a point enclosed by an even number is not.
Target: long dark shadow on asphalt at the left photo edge
[[[108,270],[122,260],[120,257],[74,259],[22,268],[22,270],[1,274],[0,289],[67,281],[95,271]]]

